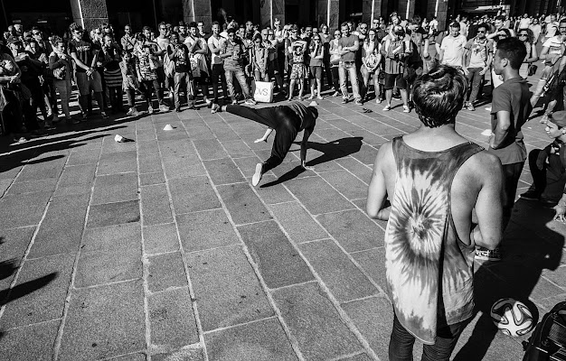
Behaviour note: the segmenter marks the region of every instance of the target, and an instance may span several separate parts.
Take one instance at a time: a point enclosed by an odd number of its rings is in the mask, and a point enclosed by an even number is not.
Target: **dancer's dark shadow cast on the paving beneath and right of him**
[[[322,153],[315,159],[308,161],[307,166],[313,167],[317,164],[334,161],[339,158],[347,157],[350,154],[357,153],[362,148],[362,140],[363,137],[361,136],[353,136],[349,138],[337,139],[335,141],[328,143],[307,142],[308,149],[314,149]],[[295,144],[300,145],[300,142],[295,142]],[[259,186],[259,188],[267,188],[283,183],[284,181],[287,180],[292,180],[293,178],[297,177],[297,175],[301,174],[303,171],[305,171],[305,169],[297,165],[297,167],[283,174],[277,180],[273,180],[270,181],[269,183],[263,184]]]

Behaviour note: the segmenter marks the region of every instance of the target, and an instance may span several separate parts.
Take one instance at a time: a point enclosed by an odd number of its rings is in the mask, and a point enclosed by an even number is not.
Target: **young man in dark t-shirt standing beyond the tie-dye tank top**
[[[489,139],[487,152],[495,154],[504,171],[503,219],[504,229],[511,218],[517,183],[523,171],[527,152],[521,127],[528,120],[532,106],[531,92],[520,75],[519,68],[526,56],[524,43],[516,38],[502,39],[495,51],[495,74],[503,75],[503,83],[494,89],[491,107],[491,127],[494,135]],[[498,261],[499,249],[478,248],[476,257]]]

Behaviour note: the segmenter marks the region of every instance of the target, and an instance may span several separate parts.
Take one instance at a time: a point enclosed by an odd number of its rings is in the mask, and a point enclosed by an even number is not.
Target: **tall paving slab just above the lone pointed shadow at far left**
[[[88,194],[53,199],[28,257],[74,254],[79,251],[88,206]]]

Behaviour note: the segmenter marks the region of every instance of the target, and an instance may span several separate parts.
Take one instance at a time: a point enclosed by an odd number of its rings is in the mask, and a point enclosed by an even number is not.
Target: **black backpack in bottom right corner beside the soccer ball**
[[[566,360],[566,301],[557,303],[523,341],[523,361]]]

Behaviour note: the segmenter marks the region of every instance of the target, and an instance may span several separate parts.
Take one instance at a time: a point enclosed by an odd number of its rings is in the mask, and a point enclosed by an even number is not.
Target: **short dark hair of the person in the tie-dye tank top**
[[[412,87],[412,97],[422,124],[429,128],[453,124],[466,91],[467,79],[454,67],[436,65],[421,75]]]

